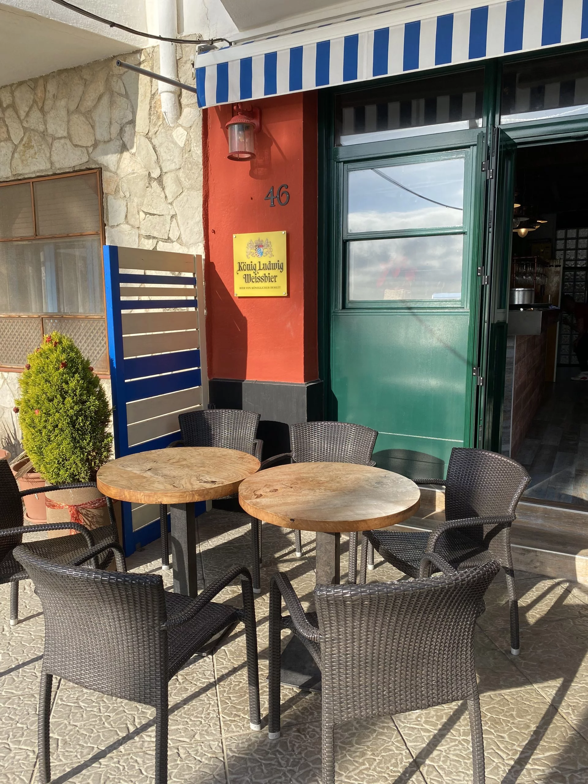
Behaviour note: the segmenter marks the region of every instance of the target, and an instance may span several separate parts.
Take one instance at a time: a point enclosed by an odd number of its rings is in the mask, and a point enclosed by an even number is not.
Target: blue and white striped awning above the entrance
[[[198,55],[198,103],[365,82],[585,38],[588,0],[423,3]]]

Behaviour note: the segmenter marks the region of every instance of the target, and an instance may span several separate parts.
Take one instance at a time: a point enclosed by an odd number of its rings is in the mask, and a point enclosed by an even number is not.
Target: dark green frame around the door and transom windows
[[[475,392],[472,395],[471,405],[471,443],[478,447],[500,451],[502,437],[502,412],[504,398],[504,365],[506,363],[506,321],[496,318],[497,302],[500,292],[510,273],[510,243],[504,241],[502,245],[494,247],[499,241],[494,231],[495,217],[499,217],[496,207],[499,200],[505,196],[508,183],[499,176],[500,166],[495,171],[492,165],[498,160],[498,131],[501,128],[517,147],[539,146],[567,141],[588,140],[588,115],[583,118],[563,120],[537,120],[534,122],[521,122],[499,126],[502,68],[505,63],[517,61],[539,60],[543,57],[553,57],[554,54],[568,54],[586,52],[588,45],[562,46],[549,49],[546,52],[525,53],[495,60],[486,60],[485,67],[485,93],[484,116],[482,128],[485,132],[483,139],[477,139],[477,159],[483,162],[486,171],[480,180],[473,178],[476,192],[476,206],[478,220],[472,224],[470,243],[472,247],[477,244],[481,260],[478,274],[482,281],[488,285],[478,287],[477,299],[470,299],[472,318],[475,318],[474,309],[477,308],[479,324],[477,331],[470,330],[470,356],[477,358],[477,376],[483,383],[473,383]],[[481,64],[476,64],[480,67]],[[475,67],[475,66],[474,66]],[[471,67],[451,67],[436,69],[435,74],[451,73],[471,70]],[[383,79],[379,82],[384,87],[397,82],[415,82],[420,78],[430,78],[431,72],[423,74],[408,74],[396,78]],[[367,87],[366,87],[367,89]],[[370,82],[373,89],[373,82]],[[332,279],[333,257],[337,252],[342,232],[342,216],[336,215],[334,207],[334,194],[340,192],[343,183],[340,181],[338,162],[357,157],[357,148],[335,147],[335,100],[341,93],[357,92],[358,85],[347,85],[338,88],[322,90],[318,93],[318,350],[319,372],[324,381],[325,388],[325,418],[332,416],[336,406],[331,391],[331,356],[330,356],[330,318],[332,307],[332,292],[336,281]],[[449,148],[471,147],[472,140],[480,131],[460,131],[431,134],[431,136],[408,137],[395,140],[394,156],[397,154],[419,154],[447,150]],[[492,141],[495,141],[493,147]],[[390,155],[389,143],[377,142],[365,144],[365,151],[361,157],[381,158]],[[482,167],[481,167],[482,168]],[[495,174],[492,182],[489,172]],[[506,306],[507,307],[507,306]],[[475,334],[477,332],[477,334]],[[475,343],[475,344],[474,344]]]

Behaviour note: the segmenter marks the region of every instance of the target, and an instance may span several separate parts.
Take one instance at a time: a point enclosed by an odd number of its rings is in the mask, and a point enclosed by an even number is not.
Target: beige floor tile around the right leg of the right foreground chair
[[[588,767],[588,743],[532,686],[481,695],[488,782],[532,782]],[[465,703],[394,717],[428,784],[470,782]]]

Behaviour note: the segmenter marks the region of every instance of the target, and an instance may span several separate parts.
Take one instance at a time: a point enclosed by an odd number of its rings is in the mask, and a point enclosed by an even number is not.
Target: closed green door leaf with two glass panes
[[[378,430],[377,464],[413,477],[474,443],[483,136],[335,164],[327,416]]]

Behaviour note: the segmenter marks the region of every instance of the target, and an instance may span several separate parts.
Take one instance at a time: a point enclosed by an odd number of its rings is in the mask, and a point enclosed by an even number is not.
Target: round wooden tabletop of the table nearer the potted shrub
[[[212,446],[153,449],[105,463],[96,476],[100,492],[135,503],[193,503],[231,495],[259,470],[246,452]]]

